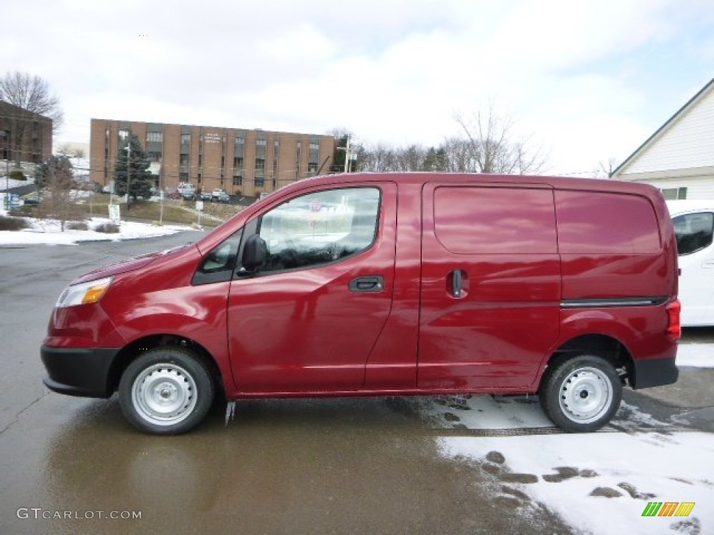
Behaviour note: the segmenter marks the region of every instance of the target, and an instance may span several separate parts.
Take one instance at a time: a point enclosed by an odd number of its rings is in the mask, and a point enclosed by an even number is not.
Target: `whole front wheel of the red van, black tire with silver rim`
[[[140,431],[181,434],[203,421],[214,392],[210,372],[193,352],[157,347],[126,367],[119,382],[119,404]]]

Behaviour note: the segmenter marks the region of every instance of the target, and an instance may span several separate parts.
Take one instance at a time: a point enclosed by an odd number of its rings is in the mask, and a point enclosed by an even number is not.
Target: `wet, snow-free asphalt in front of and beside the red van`
[[[39,345],[66,283],[196,238],[0,248],[0,534],[571,531],[538,504],[522,514],[517,490],[494,498],[480,465],[440,455],[413,399],[238,402],[227,426],[217,403],[194,432],[150,437],[116,397],[49,392]]]

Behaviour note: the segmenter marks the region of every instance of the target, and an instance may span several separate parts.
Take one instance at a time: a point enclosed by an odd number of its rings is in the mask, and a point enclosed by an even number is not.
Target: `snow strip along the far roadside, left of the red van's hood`
[[[0,215],[7,215],[5,210],[0,210]],[[0,245],[69,245],[72,243],[96,240],[132,240],[136,238],[152,238],[174,234],[181,230],[191,230],[191,227],[184,225],[149,225],[146,223],[134,223],[122,221],[119,225],[119,233],[99,233],[94,228],[99,225],[111,223],[106,218],[91,218],[87,221],[90,230],[68,230],[61,232],[58,220],[36,220],[27,219],[31,223],[31,228],[24,230],[0,230]]]

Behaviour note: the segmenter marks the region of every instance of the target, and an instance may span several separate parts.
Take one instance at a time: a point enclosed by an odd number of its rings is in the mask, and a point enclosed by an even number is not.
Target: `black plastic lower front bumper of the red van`
[[[119,348],[49,347],[40,349],[46,387],[70,396],[109,397],[109,376]]]

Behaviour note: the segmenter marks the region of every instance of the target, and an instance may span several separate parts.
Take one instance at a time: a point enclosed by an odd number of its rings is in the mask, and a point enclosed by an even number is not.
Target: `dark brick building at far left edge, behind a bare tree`
[[[0,101],[0,160],[39,163],[52,154],[52,120]]]

